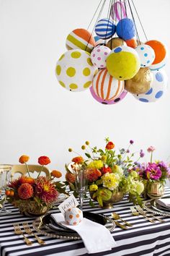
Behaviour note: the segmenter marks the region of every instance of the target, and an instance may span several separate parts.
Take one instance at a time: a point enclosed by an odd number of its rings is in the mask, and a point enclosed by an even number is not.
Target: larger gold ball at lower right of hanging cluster
[[[153,82],[153,74],[150,69],[148,67],[140,68],[135,77],[125,81],[125,89],[133,94],[147,93],[151,88],[151,82]]]

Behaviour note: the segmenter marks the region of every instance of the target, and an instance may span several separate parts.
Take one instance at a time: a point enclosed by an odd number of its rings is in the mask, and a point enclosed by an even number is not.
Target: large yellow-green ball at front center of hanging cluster
[[[129,80],[138,73],[139,69],[139,56],[131,47],[119,46],[107,57],[107,70],[117,80]]]

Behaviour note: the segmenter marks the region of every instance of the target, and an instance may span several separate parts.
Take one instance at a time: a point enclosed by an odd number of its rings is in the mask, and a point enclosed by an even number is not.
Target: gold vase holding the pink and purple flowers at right
[[[152,182],[148,184],[147,195],[150,198],[160,198],[164,195],[164,185],[161,182]]]

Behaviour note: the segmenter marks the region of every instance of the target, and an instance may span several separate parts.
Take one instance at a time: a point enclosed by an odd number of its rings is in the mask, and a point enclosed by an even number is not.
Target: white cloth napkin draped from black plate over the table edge
[[[108,251],[116,245],[109,230],[99,223],[83,218],[77,226],[71,226],[66,224],[62,213],[53,213],[51,217],[68,229],[76,231],[81,236],[88,253]]]

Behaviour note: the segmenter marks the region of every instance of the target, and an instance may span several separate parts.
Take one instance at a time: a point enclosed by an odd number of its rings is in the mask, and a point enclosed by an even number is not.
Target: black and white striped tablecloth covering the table
[[[170,195],[170,188],[166,188],[165,195]],[[84,210],[94,213],[104,213],[110,216],[112,209],[99,209],[89,206],[88,200],[85,200]],[[114,211],[119,213],[122,218],[133,224],[128,230],[122,230],[116,227],[112,231],[112,236],[117,242],[117,246],[112,251],[101,252],[93,255],[114,255],[114,256],[161,256],[170,255],[170,218],[164,218],[165,222],[150,223],[142,216],[132,216],[130,212],[130,202],[125,197],[121,202],[114,205]],[[82,240],[64,240],[52,239],[39,234],[40,238],[46,242],[46,245],[39,245],[34,236],[29,236],[32,246],[24,244],[22,236],[14,234],[14,223],[27,221],[32,224],[34,218],[25,218],[17,208],[12,205],[6,205],[6,208],[12,210],[9,216],[0,216],[0,252],[1,256],[72,256],[87,255]],[[53,211],[53,210],[52,210]],[[58,210],[55,210],[58,212]],[[102,234],[101,234],[102,236]]]

